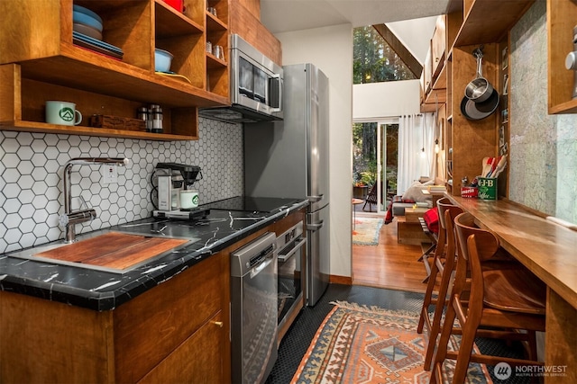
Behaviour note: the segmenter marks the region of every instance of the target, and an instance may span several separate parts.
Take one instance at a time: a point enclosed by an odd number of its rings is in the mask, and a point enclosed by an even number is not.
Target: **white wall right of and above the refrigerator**
[[[353,26],[335,25],[275,35],[283,65],[313,63],[329,78],[331,275],[351,276]]]

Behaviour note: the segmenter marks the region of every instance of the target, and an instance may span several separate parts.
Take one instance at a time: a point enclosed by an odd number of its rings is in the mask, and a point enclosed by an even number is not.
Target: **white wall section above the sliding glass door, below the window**
[[[353,85],[353,120],[419,113],[418,80]]]

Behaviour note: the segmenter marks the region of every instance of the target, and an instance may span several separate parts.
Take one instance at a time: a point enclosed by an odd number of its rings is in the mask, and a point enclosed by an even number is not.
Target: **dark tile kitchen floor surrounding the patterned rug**
[[[270,372],[267,384],[288,384],[298,369],[302,357],[316,334],[326,315],[331,311],[334,300],[346,300],[362,305],[377,306],[393,310],[408,310],[419,312],[423,294],[402,290],[383,290],[379,288],[330,284],[325,295],[313,308],[304,308],[290,327],[289,332],[279,345],[279,359]],[[510,347],[504,343],[488,339],[478,339],[477,345],[481,353],[499,354],[501,356],[519,357],[520,347]],[[493,376],[492,367],[489,367]],[[526,383],[527,378],[510,378],[497,380],[496,383]],[[349,384],[349,383],[347,383]]]

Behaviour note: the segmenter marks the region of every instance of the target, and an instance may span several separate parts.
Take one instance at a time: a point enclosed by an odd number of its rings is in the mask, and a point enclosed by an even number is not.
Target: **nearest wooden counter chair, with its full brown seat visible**
[[[457,266],[444,324],[453,325],[457,318],[462,329],[461,344],[458,352],[447,351],[454,326],[444,326],[430,382],[443,381],[442,364],[445,358],[456,359],[453,383],[463,383],[469,362],[543,365],[536,362],[536,331],[545,331],[545,284],[527,269],[483,270],[481,263],[497,253],[499,239],[488,230],[475,228],[469,213],[458,215],[454,224]],[[467,277],[468,270],[470,279]],[[465,308],[462,294],[467,291],[469,297]],[[489,328],[484,335],[526,341],[529,344],[529,360],[472,354],[474,339],[479,335],[481,326]]]

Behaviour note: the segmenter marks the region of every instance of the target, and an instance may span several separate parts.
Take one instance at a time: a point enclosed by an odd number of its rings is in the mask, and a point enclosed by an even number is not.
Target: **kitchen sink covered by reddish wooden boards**
[[[196,237],[167,237],[161,232],[142,235],[124,230],[100,230],[80,236],[78,241],[72,244],[59,241],[24,249],[8,256],[125,273],[198,240]]]

